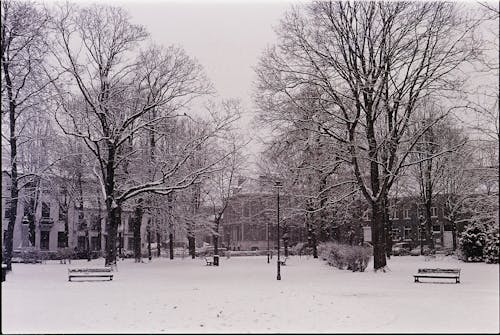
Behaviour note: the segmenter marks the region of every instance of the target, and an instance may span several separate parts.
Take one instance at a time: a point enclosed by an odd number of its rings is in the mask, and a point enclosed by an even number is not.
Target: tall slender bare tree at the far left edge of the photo
[[[24,1],[2,1],[1,12],[2,119],[5,116],[9,125],[8,135],[2,129],[2,137],[9,144],[11,179],[11,210],[4,262],[10,270],[19,178],[23,177],[18,171],[19,137],[24,131],[26,114],[36,111],[37,106],[43,106],[46,101],[46,90],[51,81],[44,67],[48,53],[49,17],[43,9]]]

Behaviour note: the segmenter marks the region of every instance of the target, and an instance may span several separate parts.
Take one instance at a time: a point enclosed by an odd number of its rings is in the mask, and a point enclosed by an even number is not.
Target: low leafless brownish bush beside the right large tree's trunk
[[[322,243],[318,246],[318,254],[330,266],[363,272],[368,266],[371,250],[357,245]]]

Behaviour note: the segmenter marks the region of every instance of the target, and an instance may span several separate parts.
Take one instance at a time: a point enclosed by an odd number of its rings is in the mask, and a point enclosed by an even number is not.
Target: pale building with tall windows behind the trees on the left
[[[87,250],[94,256],[104,255],[107,244],[108,224],[104,204],[99,204],[97,185],[84,183],[83,210],[74,199],[69,199],[60,187],[61,178],[52,177],[50,181],[39,180],[20,189],[17,206],[16,223],[14,225],[13,250],[36,249],[47,257],[55,257],[58,251],[70,248],[80,257],[85,257]],[[68,200],[69,199],[69,200]],[[10,216],[10,176],[2,172],[2,241],[5,236]],[[99,207],[100,205],[100,207]],[[208,214],[207,214],[208,216]],[[168,242],[168,232],[172,229],[174,244],[184,246],[187,243],[186,232],[165,222],[163,218],[152,218],[147,213],[141,224],[141,249],[147,248],[147,226],[153,220],[153,227],[160,227],[160,245],[163,254]],[[67,246],[66,246],[67,222]],[[152,230],[151,243],[157,243],[156,230]],[[207,240],[203,231],[196,233],[197,245]],[[120,251],[133,251],[133,212],[122,210],[121,224],[118,226],[117,247]]]

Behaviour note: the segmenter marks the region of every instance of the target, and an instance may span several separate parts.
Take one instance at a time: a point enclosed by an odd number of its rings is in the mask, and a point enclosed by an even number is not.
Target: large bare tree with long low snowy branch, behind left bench
[[[58,87],[65,113],[59,114],[57,120],[66,134],[84,141],[98,161],[96,176],[102,186],[109,224],[109,265],[116,259],[123,203],[150,192],[167,195],[195,182],[213,166],[213,161],[196,171],[179,174],[182,167],[198,147],[233,119],[206,121],[191,141],[183,143],[182,155],[175,160],[159,154],[157,173],[151,179],[126,178],[125,169],[132,167],[128,162],[137,154],[133,141],[139,134],[165,120],[185,117],[181,110],[194,98],[209,93],[211,86],[201,66],[180,48],[151,47],[134,57],[134,48],[147,33],[130,23],[120,8],[61,7],[55,29],[60,47],[58,63],[73,85]],[[72,108],[74,89],[85,101],[83,109]],[[156,118],[146,117],[153,109]]]

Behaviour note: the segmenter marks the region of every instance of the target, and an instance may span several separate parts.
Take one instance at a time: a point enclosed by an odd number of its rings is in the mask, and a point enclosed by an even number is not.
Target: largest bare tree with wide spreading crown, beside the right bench
[[[454,70],[476,56],[476,23],[452,3],[318,1],[285,16],[278,46],[259,63],[268,106],[307,109],[299,92],[316,90],[315,122],[347,146],[343,158],[371,207],[375,270],[386,265],[383,199],[426,131],[407,138],[409,124],[423,97],[460,87]]]

